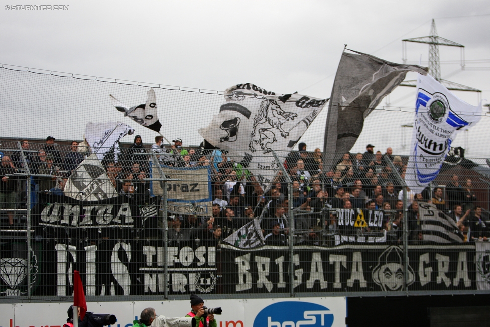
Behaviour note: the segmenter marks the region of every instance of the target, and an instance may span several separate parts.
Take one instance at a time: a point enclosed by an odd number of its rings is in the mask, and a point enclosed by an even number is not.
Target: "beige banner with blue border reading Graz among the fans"
[[[177,168],[162,165],[162,171],[168,181],[167,210],[175,214],[198,214],[211,216],[212,193],[211,175],[208,168]],[[153,179],[163,179],[158,167],[151,167]],[[154,195],[163,195],[162,180],[152,181]]]

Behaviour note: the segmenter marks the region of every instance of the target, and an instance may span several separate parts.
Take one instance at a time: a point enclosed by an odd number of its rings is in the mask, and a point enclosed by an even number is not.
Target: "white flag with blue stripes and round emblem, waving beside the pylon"
[[[472,106],[431,76],[418,75],[412,153],[405,181],[415,193],[433,181],[456,135],[476,124],[480,106]]]

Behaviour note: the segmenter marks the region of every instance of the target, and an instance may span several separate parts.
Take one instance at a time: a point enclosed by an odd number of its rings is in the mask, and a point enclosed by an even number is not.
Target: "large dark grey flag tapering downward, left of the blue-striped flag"
[[[348,49],[347,49],[348,50]],[[401,65],[369,54],[343,52],[333,83],[323,142],[324,164],[349,152],[362,132],[364,119],[405,79],[409,71],[426,75],[427,68]],[[327,170],[328,171],[328,170]]]

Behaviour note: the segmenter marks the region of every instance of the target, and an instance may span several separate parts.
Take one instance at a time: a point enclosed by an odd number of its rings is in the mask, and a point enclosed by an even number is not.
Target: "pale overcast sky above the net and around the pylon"
[[[434,18],[439,36],[465,46],[468,68],[463,71],[458,64],[459,48],[440,47],[442,78],[480,89],[481,98],[490,101],[487,0],[83,1],[66,2],[68,11],[5,9],[15,4],[57,3],[4,1],[0,9],[3,64],[218,91],[251,82],[276,93],[298,91],[318,98],[330,97],[344,44],[401,63],[401,40],[429,35]],[[407,44],[407,59],[421,60],[426,66],[428,45]],[[457,95],[477,104],[474,93]],[[387,101],[413,108],[415,89],[399,87],[382,104]],[[311,145],[309,150],[322,147],[326,114],[325,110],[303,137]],[[366,122],[370,134],[364,131],[353,151],[378,142],[381,148],[392,145],[403,152],[401,134],[406,132],[400,132],[400,124],[410,123],[413,115],[399,117],[391,124],[397,130],[386,134],[372,127],[390,121],[380,118],[383,113],[371,115]],[[458,136],[455,144],[485,156],[487,147],[477,150],[472,140],[488,141],[489,119],[483,117],[478,131],[466,133],[466,139]],[[5,130],[2,133],[9,136]],[[393,133],[398,135],[392,138]],[[406,138],[409,142],[411,132]]]

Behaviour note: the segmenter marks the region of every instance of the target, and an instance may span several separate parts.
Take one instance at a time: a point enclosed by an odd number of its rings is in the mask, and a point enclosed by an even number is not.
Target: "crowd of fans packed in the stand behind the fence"
[[[23,153],[12,150],[0,153],[0,202],[9,225],[14,224],[14,209],[26,203],[26,189],[34,196],[32,205],[42,202],[46,194],[63,195],[72,171],[91,153],[87,142],[73,141],[67,147],[54,144],[48,136],[42,148],[31,150],[28,140],[21,141]],[[173,167],[208,167],[212,183],[212,215],[183,215],[169,212],[169,242],[220,242],[254,218],[260,226],[266,245],[286,245],[289,233],[295,243],[325,245],[336,234],[369,235],[387,231],[393,242],[401,242],[403,223],[403,188],[406,164],[391,148],[374,151],[368,144],[364,153],[345,153],[331,169],[324,171],[320,149],[306,151],[299,143],[291,151],[272,187],[264,192],[246,164],[236,162],[219,149],[184,149],[182,140],[165,147],[157,136],[151,148],[137,135],[134,143],[120,151],[108,153],[102,165],[117,193],[136,201],[149,199],[149,160],[155,153],[162,165]],[[27,165],[27,167],[26,167]],[[23,172],[33,175],[28,184]],[[288,187],[289,180],[292,188]],[[289,191],[292,191],[290,197]],[[433,194],[432,194],[433,193]],[[410,240],[422,240],[419,203],[433,203],[454,219],[466,241],[487,240],[490,236],[488,217],[476,206],[471,180],[460,184],[457,175],[445,187],[416,194],[407,188]],[[292,199],[292,203],[290,203]],[[290,226],[289,208],[293,208],[294,226]],[[354,215],[348,222],[345,212]],[[382,212],[382,214],[378,214]],[[341,217],[342,216],[342,217]],[[375,218],[376,217],[376,218]],[[355,224],[353,223],[355,221]],[[163,221],[159,227],[164,230]],[[330,241],[329,241],[330,240]]]

